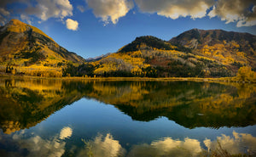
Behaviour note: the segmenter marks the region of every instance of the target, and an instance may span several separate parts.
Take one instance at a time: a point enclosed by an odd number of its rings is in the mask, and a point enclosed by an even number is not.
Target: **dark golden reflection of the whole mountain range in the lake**
[[[112,104],[135,121],[165,116],[187,128],[256,124],[252,84],[0,79],[0,127],[9,134],[36,126],[80,98]]]

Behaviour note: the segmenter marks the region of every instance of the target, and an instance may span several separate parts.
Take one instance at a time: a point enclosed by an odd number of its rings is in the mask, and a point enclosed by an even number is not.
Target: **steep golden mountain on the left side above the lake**
[[[8,67],[20,73],[35,73],[33,70],[56,70],[66,64],[81,64],[85,60],[59,46],[38,28],[20,20],[10,20],[0,27],[1,70]],[[28,72],[29,71],[29,72]],[[36,72],[35,75],[41,75]]]

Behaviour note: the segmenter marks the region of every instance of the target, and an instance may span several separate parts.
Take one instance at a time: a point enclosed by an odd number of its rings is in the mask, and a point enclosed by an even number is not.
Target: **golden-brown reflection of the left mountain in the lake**
[[[55,111],[82,98],[56,80],[0,80],[0,127],[4,133],[35,126]]]

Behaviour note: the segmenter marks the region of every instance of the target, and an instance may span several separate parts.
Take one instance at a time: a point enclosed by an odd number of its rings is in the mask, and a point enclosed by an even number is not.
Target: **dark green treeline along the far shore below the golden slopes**
[[[67,64],[67,68],[62,70],[63,76],[84,76],[84,77],[224,77],[230,76],[227,70],[219,67],[216,71],[203,70],[201,64],[196,64],[195,67],[183,65],[181,63],[172,62],[166,67],[148,66],[142,68],[141,73],[132,73],[129,70],[114,70],[104,71],[102,74],[94,73],[100,65],[94,66],[90,63],[80,64],[78,67],[73,64]]]

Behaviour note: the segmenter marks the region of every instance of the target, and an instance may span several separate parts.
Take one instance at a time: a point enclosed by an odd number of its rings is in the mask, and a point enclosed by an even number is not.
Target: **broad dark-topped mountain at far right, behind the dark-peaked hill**
[[[225,64],[256,67],[256,36],[249,33],[193,29],[173,37],[169,42],[191,48],[196,54]]]

